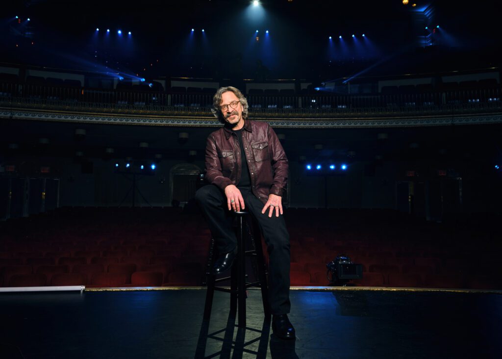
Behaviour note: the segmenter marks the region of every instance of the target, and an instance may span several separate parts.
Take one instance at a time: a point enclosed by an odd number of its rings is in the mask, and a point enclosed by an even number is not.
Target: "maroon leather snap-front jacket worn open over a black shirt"
[[[248,160],[251,189],[266,203],[269,194],[282,196],[288,180],[288,158],[274,130],[266,122],[244,121],[242,145]],[[238,185],[241,153],[237,135],[226,127],[211,133],[206,146],[205,178],[224,191]]]

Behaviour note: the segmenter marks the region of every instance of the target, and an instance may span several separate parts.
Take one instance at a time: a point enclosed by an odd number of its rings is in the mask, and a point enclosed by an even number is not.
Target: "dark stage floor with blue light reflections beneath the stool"
[[[331,288],[330,288],[331,289]],[[0,357],[500,358],[502,292],[292,290],[297,340],[264,321],[249,291],[247,327],[204,289],[0,294]]]

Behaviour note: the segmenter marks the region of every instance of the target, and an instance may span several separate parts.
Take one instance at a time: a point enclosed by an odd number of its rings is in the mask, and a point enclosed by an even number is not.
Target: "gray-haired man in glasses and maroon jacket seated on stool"
[[[235,87],[221,87],[213,97],[213,114],[224,126],[207,138],[206,175],[210,185],[195,194],[216,240],[219,257],[213,273],[229,269],[237,240],[229,211],[247,209],[258,220],[269,252],[269,304],[272,328],[283,339],[295,338],[290,312],[289,234],[282,194],[288,159],[272,128],[247,119],[247,100]]]

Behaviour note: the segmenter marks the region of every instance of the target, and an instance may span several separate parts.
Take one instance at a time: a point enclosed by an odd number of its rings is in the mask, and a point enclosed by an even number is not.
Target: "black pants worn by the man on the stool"
[[[263,202],[250,189],[239,188],[244,199],[245,209],[258,220],[260,229],[269,252],[269,303],[272,314],[287,314],[290,312],[289,301],[289,270],[290,244],[284,217],[272,217],[269,211],[262,214]],[[215,185],[199,188],[195,199],[202,208],[209,229],[219,253],[232,251],[237,246],[237,238],[232,228],[232,215],[227,207],[225,194]],[[259,244],[257,244],[259,245]]]

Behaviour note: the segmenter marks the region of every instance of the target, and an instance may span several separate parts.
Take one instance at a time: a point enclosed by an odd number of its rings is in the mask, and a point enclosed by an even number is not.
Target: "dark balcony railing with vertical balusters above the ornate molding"
[[[249,95],[255,116],[272,118],[350,118],[449,113],[498,112],[499,86],[487,89],[431,91],[412,94],[321,93]],[[210,115],[212,95],[205,93],[134,92],[0,83],[0,105],[11,108],[92,111],[121,114]]]

